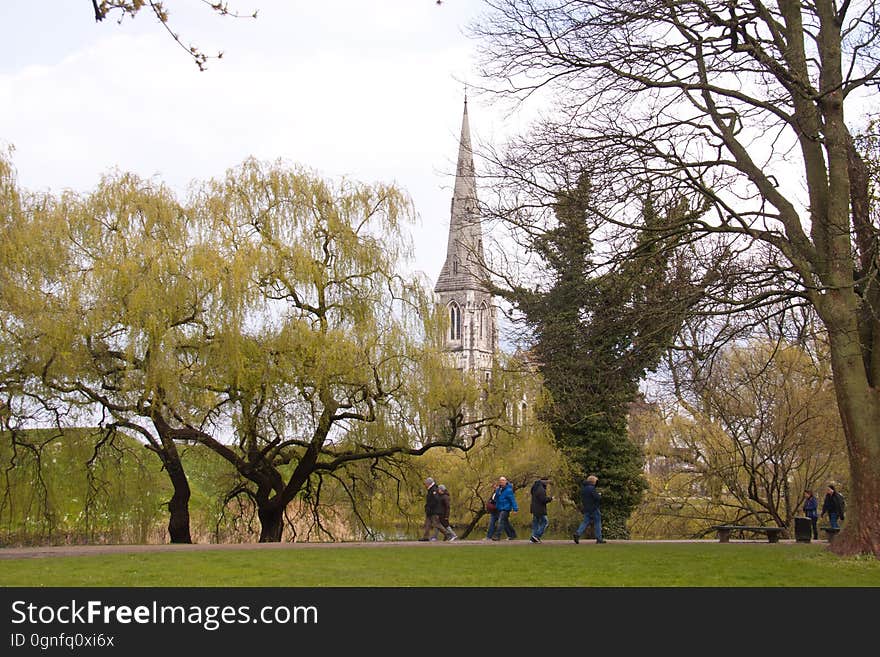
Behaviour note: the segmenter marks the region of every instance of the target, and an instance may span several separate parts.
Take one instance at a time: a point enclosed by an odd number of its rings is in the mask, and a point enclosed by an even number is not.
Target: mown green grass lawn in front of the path
[[[821,544],[334,546],[0,559],[26,587],[875,587],[880,560]]]

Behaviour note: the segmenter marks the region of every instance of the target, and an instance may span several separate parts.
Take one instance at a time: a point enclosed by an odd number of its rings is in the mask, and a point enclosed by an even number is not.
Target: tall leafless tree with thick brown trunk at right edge
[[[474,26],[487,85],[551,95],[556,118],[507,162],[548,185],[585,158],[625,258],[649,185],[712,212],[668,227],[719,272],[707,314],[807,304],[828,332],[851,465],[832,549],[880,556],[880,281],[876,215],[851,123],[880,82],[869,0],[487,0]],[[632,244],[633,240],[629,240]],[[608,248],[605,248],[608,247]]]

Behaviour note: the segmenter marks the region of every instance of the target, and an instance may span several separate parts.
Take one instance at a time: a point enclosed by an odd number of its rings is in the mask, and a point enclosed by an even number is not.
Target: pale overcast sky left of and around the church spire
[[[0,3],[0,144],[19,184],[88,191],[112,168],[157,176],[181,198],[248,156],[328,178],[396,182],[413,198],[414,268],[446,251],[477,0],[166,0],[186,44],[223,52],[200,72],[143,10],[96,23],[88,0]],[[475,147],[510,125],[473,93]],[[493,118],[494,117],[494,118]],[[478,162],[479,167],[479,162]]]

